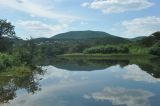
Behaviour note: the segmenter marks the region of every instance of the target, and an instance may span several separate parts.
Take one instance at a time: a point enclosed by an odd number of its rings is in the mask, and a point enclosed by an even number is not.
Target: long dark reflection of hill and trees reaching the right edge
[[[102,70],[110,66],[120,65],[121,67],[129,64],[136,64],[142,70],[160,78],[160,59],[159,58],[125,58],[125,59],[80,59],[80,58],[55,58],[47,64],[60,69],[69,71],[93,71]]]

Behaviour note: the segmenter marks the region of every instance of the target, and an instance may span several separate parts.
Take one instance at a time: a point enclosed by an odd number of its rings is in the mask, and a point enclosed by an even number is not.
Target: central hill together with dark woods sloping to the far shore
[[[119,45],[130,43],[129,39],[114,36],[100,31],[70,31],[51,38],[37,38],[38,45],[53,50],[56,54],[82,53],[84,49],[101,45]],[[54,53],[51,53],[54,54]]]

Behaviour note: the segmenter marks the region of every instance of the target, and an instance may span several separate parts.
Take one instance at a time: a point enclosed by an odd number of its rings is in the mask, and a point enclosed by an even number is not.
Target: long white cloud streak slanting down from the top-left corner
[[[29,14],[30,16],[43,17],[49,19],[80,19],[76,16],[70,16],[64,13],[53,11],[50,4],[44,5],[32,0],[0,0],[0,6],[18,10]]]

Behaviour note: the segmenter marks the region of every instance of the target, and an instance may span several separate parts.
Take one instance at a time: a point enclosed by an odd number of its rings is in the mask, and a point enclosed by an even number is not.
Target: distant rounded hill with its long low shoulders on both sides
[[[53,43],[55,41],[69,43],[85,43],[85,44],[120,44],[128,43],[130,40],[108,34],[101,31],[70,31],[55,35],[51,38],[37,38],[34,39],[36,43]]]

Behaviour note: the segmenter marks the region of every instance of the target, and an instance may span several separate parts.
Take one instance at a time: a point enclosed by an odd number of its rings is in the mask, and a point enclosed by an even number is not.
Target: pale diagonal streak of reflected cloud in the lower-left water
[[[14,101],[11,101],[11,104],[6,104],[4,106],[45,106],[46,104],[49,105],[48,103],[51,103],[51,105],[49,106],[69,106],[67,105],[68,101],[63,100],[63,98],[57,97],[55,93],[65,90],[71,92],[73,89],[80,88],[81,86],[88,85],[89,83],[92,82],[70,82],[69,80],[58,82],[57,84],[51,84],[43,87],[42,91],[34,95],[22,93],[18,95],[18,97],[15,98]]]

